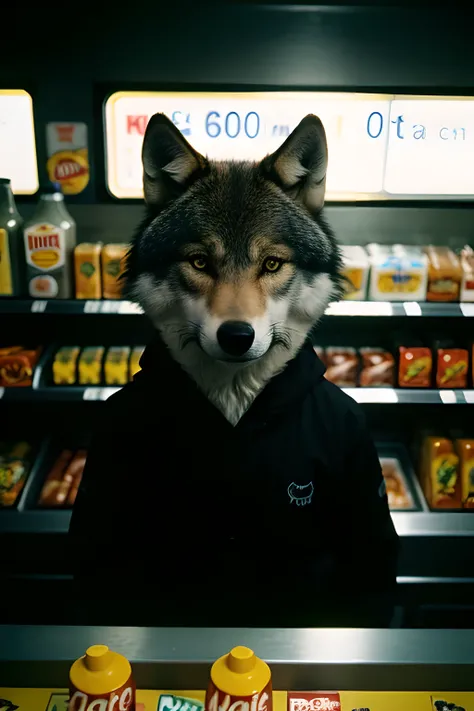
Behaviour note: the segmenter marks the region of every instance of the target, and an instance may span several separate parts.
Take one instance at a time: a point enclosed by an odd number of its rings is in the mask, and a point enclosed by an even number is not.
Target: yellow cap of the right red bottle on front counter
[[[234,647],[220,657],[211,669],[214,685],[231,696],[252,696],[267,686],[271,679],[268,664],[248,647]]]

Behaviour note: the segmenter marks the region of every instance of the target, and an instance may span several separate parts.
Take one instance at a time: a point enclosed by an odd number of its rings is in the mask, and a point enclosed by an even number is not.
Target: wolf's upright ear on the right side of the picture
[[[313,213],[324,204],[327,165],[326,132],[313,114],[308,114],[283,145],[262,162],[268,178]]]

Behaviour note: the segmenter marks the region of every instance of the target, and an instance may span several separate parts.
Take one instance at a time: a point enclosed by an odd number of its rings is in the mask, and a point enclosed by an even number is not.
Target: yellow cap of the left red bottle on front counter
[[[85,694],[100,696],[123,686],[132,673],[128,659],[105,644],[94,644],[71,667],[71,684]]]

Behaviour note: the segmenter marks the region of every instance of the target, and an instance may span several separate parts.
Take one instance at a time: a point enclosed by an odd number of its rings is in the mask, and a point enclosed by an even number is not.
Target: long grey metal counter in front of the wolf
[[[245,644],[270,663],[275,689],[474,691],[464,630],[1,626],[0,686],[65,687],[97,643],[132,662],[140,688],[205,688],[212,662]]]

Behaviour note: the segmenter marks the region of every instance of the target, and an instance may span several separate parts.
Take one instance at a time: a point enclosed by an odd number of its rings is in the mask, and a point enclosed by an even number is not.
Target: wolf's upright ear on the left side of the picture
[[[177,198],[208,165],[164,114],[154,114],[148,122],[142,162],[145,200],[152,207]]]

